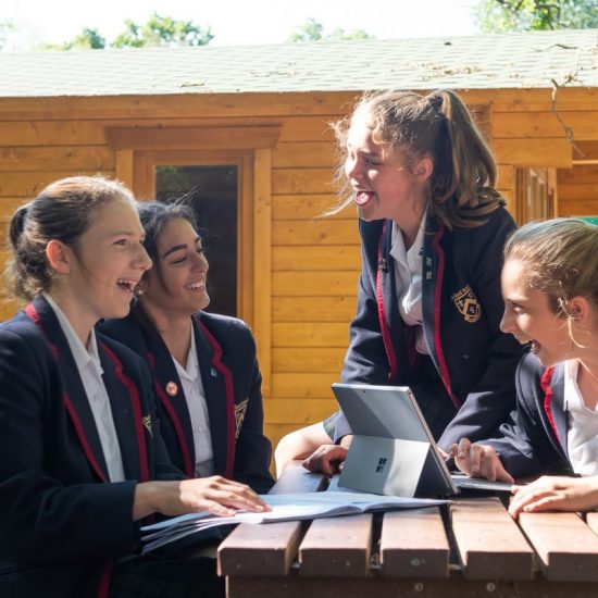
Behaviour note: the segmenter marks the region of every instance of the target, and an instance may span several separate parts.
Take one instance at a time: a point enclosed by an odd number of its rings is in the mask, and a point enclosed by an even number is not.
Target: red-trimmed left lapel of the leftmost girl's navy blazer
[[[89,406],[75,359],[58,317],[43,298],[34,300],[25,309],[25,312],[43,333],[59,362],[64,390],[62,398],[87,460],[98,477],[103,482],[108,482],[108,466],[96,421],[94,420],[94,413]]]

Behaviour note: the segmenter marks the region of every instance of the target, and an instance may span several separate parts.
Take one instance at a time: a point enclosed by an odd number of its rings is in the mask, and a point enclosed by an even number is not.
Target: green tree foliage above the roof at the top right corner
[[[481,0],[474,20],[483,33],[598,27],[598,0]]]

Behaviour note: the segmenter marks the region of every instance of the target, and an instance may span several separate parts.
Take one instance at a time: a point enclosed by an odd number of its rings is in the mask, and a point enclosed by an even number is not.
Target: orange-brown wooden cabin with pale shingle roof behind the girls
[[[456,89],[520,223],[598,214],[597,40],[584,30],[0,53],[0,220],[73,174],[115,176],[140,199],[190,192],[213,309],[253,329],[276,444],[335,409],[354,311],[356,213],[319,217],[335,200],[328,123],[366,89]],[[0,319],[15,309],[3,302]]]

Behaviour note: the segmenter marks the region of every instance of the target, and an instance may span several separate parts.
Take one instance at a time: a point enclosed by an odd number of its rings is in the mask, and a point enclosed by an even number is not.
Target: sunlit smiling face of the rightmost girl
[[[546,366],[576,357],[566,315],[557,315],[548,296],[525,283],[525,264],[508,259],[501,274],[504,314],[500,329],[520,342],[532,344],[532,351]]]

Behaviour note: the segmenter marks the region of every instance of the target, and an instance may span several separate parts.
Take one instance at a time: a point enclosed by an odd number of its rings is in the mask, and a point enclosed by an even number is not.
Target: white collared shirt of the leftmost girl
[[[108,466],[108,476],[111,482],[124,482],[123,456],[121,454],[121,445],[119,444],[116,428],[114,427],[110,398],[102,379],[103,370],[98,353],[96,333],[91,328],[87,348],[85,348],[71,322],[68,322],[68,319],[58,307],[57,302],[47,294],[43,294],[43,298],[55,313],[60,327],[68,342],[68,348],[75,359],[83,387],[85,388],[85,394],[94,414],[94,421],[98,428],[102,452]]]

